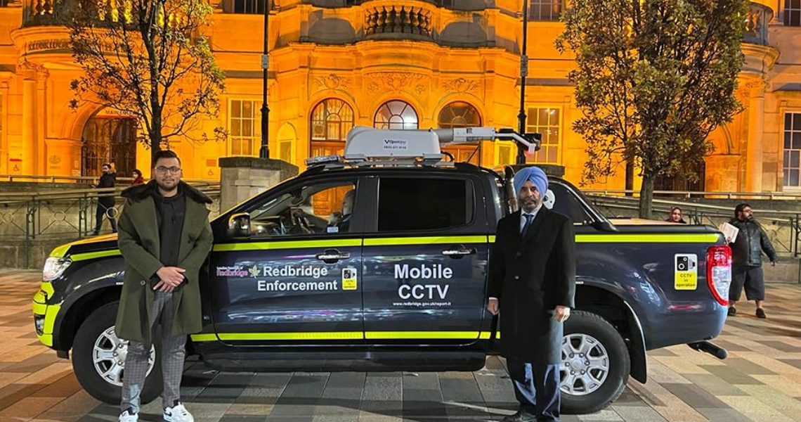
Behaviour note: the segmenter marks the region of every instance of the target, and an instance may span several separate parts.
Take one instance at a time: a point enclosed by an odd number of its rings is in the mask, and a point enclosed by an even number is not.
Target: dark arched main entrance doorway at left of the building
[[[103,163],[111,163],[119,177],[130,177],[136,168],[136,128],[131,117],[91,118],[83,127],[81,174],[100,176]]]

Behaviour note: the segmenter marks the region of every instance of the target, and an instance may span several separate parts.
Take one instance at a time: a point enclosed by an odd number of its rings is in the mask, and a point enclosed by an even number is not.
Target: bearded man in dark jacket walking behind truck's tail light
[[[763,302],[765,301],[765,279],[762,270],[762,253],[776,265],[776,250],[771,240],[753,215],[751,205],[738,204],[735,217],[729,221],[739,229],[737,238],[731,243],[731,290],[729,290],[729,316],[737,314],[735,305],[740,300],[743,287],[747,300],[756,302],[756,316],[766,318]]]

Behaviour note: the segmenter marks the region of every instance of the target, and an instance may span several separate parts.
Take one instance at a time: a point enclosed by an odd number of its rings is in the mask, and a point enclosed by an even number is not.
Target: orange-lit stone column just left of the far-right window
[[[762,192],[765,85],[762,80],[746,84],[748,100],[748,146],[746,149],[746,192]]]

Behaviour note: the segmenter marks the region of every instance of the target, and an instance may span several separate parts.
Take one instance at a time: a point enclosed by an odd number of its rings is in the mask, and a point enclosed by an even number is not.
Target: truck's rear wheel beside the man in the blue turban
[[[562,412],[566,414],[606,408],[623,393],[631,371],[620,333],[606,319],[583,310],[574,311],[565,322],[562,362]]]

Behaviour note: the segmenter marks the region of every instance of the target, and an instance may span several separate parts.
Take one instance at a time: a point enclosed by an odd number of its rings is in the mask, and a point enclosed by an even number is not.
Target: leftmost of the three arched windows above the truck
[[[344,140],[353,128],[353,108],[341,99],[324,99],[312,110],[311,126],[309,156],[338,154],[344,149]]]

